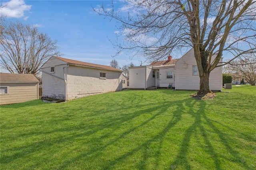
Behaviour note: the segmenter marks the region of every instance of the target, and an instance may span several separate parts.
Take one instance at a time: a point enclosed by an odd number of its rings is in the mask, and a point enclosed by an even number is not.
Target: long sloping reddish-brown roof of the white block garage
[[[57,56],[53,56],[53,57],[56,57],[57,59],[60,59],[60,60],[66,62],[68,64],[78,64],[78,65],[82,65],[82,66],[90,66],[90,67],[95,67],[95,68],[103,68],[103,69],[106,69],[106,70],[113,70],[113,71],[123,72],[122,70],[119,70],[119,69],[111,67],[111,66],[105,66],[105,65],[100,65],[100,64],[93,64],[93,63],[86,63],[86,62],[82,62],[82,61],[65,59],[65,58],[57,57]]]

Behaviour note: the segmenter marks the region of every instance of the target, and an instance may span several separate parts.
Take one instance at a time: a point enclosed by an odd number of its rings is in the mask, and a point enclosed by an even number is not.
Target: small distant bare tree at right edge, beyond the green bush
[[[256,58],[252,55],[239,57],[228,65],[229,72],[239,73],[252,86],[256,83]]]

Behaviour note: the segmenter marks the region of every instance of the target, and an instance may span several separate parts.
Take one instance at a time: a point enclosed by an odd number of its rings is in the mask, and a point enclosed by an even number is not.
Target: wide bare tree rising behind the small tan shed
[[[0,65],[11,73],[36,75],[46,60],[60,55],[56,41],[34,26],[1,18],[0,33]]]

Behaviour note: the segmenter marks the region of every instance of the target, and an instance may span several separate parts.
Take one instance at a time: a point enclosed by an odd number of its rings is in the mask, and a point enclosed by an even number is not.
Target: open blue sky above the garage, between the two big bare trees
[[[116,49],[110,43],[116,40],[116,21],[104,19],[93,11],[102,3],[105,7],[111,1],[100,0],[1,0],[1,15],[9,21],[21,21],[24,24],[36,25],[42,33],[47,33],[52,40],[57,40],[59,51],[64,58],[88,63],[109,65]],[[114,1],[114,6],[124,12],[122,1]],[[145,59],[122,53],[114,57],[119,66],[134,63],[140,65]]]

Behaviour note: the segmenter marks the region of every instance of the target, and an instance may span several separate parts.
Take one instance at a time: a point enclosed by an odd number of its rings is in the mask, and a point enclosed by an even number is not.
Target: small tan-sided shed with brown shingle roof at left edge
[[[0,73],[0,105],[37,100],[38,86],[33,74]]]

